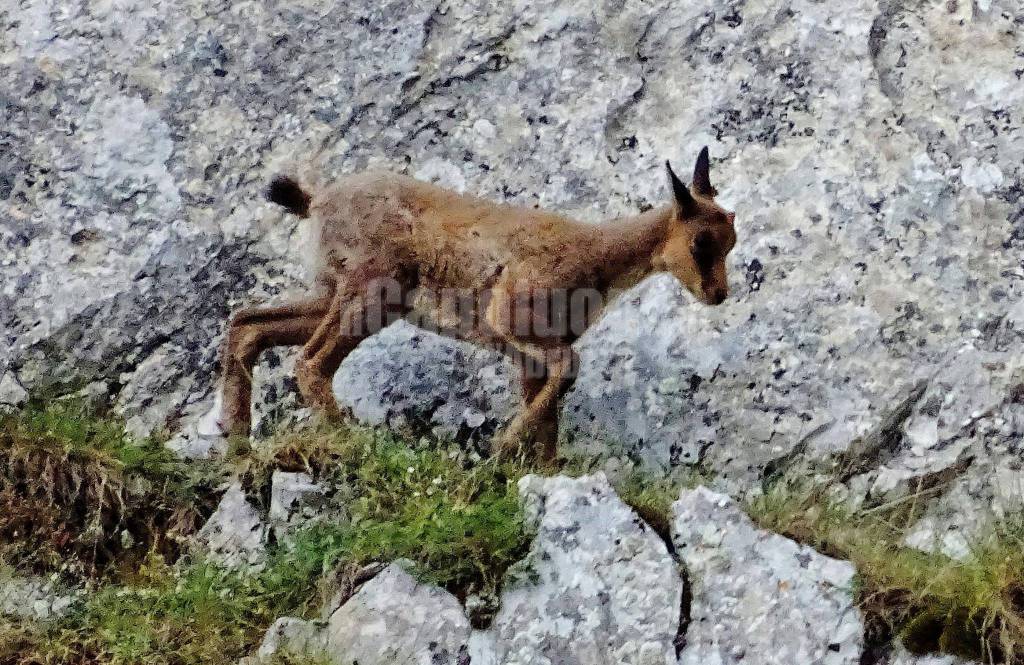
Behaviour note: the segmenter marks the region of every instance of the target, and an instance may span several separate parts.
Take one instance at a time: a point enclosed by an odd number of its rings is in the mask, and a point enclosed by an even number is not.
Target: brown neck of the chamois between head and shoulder
[[[653,272],[671,220],[672,208],[665,206],[601,224],[597,267],[606,287],[629,288]]]

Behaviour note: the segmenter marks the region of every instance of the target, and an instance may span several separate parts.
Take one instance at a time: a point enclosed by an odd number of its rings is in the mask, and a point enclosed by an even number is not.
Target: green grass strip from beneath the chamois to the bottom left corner
[[[300,531],[257,574],[201,560],[169,567],[151,554],[63,620],[0,622],[0,664],[227,665],[278,617],[316,616],[339,588],[353,591],[368,563],[409,558],[422,579],[462,598],[496,597],[528,548],[515,492],[522,465],[470,464],[436,442],[324,427],[282,434],[232,466],[256,493],[274,468],[309,471],[344,488],[350,519]],[[483,602],[477,620],[488,612]]]

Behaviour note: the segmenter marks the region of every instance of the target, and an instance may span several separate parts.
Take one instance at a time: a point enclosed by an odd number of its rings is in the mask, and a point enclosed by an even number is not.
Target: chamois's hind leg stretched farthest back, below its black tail
[[[228,434],[249,434],[252,369],[257,358],[271,346],[305,343],[330,303],[331,298],[326,296],[275,307],[246,307],[234,313],[221,347],[221,430]]]

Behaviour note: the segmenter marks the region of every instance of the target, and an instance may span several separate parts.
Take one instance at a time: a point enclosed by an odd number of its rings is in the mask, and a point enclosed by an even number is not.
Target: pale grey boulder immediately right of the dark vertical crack
[[[672,540],[692,600],[680,665],[856,665],[855,571],[756,528],[729,497],[684,490]]]

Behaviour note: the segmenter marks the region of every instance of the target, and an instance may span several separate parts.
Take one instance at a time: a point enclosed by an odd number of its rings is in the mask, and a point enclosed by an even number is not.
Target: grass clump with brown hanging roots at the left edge
[[[0,560],[71,580],[175,558],[212,510],[209,479],[75,403],[0,416]]]

